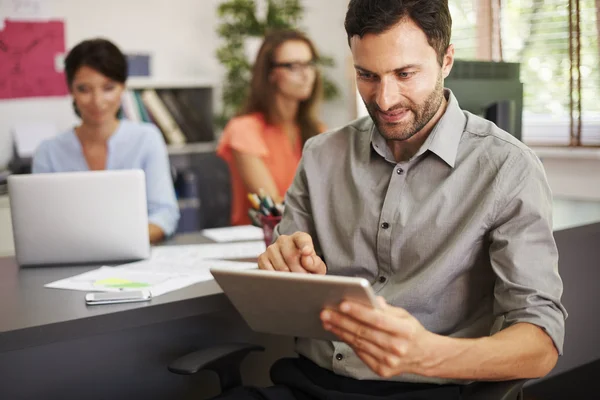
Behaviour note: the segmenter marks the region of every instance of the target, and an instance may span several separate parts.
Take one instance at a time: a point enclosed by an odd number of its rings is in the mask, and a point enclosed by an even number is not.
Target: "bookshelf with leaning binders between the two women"
[[[125,118],[152,122],[163,133],[181,214],[177,233],[197,231],[212,223],[210,212],[203,208],[210,204],[214,188],[206,187],[203,179],[219,175],[205,162],[217,157],[213,86],[198,79],[131,78],[123,95]],[[212,216],[218,217],[227,221],[228,213]]]

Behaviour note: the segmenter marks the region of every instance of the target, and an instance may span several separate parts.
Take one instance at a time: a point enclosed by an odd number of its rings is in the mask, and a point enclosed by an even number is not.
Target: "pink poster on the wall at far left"
[[[57,58],[65,53],[63,21],[5,21],[0,30],[0,99],[64,96]]]

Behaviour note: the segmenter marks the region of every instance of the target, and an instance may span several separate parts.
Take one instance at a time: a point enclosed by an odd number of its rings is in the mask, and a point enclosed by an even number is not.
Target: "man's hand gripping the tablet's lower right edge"
[[[379,309],[344,301],[338,310],[321,312],[323,327],[347,343],[377,375],[425,375],[437,335],[406,310],[378,297]]]

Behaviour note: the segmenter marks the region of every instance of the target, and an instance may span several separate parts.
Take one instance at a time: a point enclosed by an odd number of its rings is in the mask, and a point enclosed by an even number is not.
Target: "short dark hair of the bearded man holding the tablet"
[[[379,35],[406,18],[425,32],[442,65],[452,33],[448,0],[350,0],[344,22],[348,44],[355,35]]]

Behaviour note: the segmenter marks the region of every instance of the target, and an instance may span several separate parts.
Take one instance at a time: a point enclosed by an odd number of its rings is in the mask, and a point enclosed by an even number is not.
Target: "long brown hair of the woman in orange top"
[[[313,43],[303,33],[295,30],[277,30],[268,33],[258,51],[256,62],[252,67],[252,80],[250,82],[250,93],[246,99],[245,107],[240,115],[261,113],[267,123],[274,124],[278,121],[275,104],[276,88],[269,81],[269,74],[273,69],[275,52],[288,41],[301,41],[310,47],[313,60],[317,61],[319,55]],[[302,143],[320,133],[320,123],[317,118],[317,106],[321,100],[323,83],[321,74],[317,70],[313,91],[310,97],[298,106],[296,123],[300,127]]]

